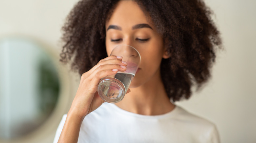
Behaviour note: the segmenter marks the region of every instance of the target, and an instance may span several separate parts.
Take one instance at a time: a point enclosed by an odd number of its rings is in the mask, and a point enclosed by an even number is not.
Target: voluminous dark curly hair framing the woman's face
[[[119,0],[81,0],[69,13],[60,61],[72,62],[82,75],[107,57],[105,23]],[[201,0],[134,0],[149,14],[166,41],[168,59],[162,59],[161,78],[173,101],[191,96],[210,77],[221,38],[211,10]]]

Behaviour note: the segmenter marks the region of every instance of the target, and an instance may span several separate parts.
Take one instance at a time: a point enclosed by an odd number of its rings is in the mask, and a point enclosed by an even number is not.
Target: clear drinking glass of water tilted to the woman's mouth
[[[118,71],[114,75],[102,78],[98,85],[98,94],[105,102],[117,103],[124,98],[138,70],[141,57],[139,52],[129,45],[118,45],[110,55],[122,56],[122,60],[128,63],[127,69],[124,72]]]

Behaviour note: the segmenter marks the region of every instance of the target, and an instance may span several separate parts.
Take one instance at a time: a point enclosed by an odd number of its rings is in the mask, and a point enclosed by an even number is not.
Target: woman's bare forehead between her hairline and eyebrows
[[[152,22],[136,2],[132,0],[121,0],[117,3],[105,26],[119,25],[121,27],[132,27],[140,23],[151,24]]]

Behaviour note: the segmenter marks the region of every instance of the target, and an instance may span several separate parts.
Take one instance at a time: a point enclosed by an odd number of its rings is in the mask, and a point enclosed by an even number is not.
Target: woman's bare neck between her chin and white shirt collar
[[[131,92],[116,105],[141,115],[161,115],[173,110],[175,105],[170,102],[160,78],[160,71],[158,72],[159,76],[151,78],[139,87],[131,88]]]

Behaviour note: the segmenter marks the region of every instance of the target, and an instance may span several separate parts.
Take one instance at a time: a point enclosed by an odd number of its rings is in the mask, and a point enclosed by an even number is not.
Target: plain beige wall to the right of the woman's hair
[[[223,143],[256,142],[256,1],[207,0],[215,11],[225,50],[213,78],[181,105],[217,124]]]

